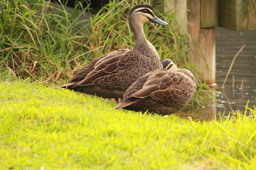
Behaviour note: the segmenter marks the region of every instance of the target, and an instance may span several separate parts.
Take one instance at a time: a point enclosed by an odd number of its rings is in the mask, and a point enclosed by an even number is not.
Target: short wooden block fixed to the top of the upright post
[[[201,28],[218,26],[218,0],[201,0]]]

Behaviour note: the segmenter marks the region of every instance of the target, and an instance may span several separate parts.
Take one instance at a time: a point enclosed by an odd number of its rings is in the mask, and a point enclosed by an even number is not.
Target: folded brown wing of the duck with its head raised
[[[78,86],[111,86],[119,88],[127,86],[139,77],[139,67],[137,65],[142,60],[149,60],[134,50],[128,50],[122,55],[112,55],[105,60],[95,63],[94,69],[87,74],[85,79],[79,82]]]

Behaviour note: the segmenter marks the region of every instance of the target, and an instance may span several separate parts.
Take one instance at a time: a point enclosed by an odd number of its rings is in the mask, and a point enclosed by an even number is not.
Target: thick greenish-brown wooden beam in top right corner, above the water
[[[219,23],[232,30],[256,29],[255,0],[220,0]]]

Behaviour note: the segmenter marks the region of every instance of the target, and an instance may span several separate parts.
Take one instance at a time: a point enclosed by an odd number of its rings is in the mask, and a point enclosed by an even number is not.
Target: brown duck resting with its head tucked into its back
[[[116,109],[169,115],[184,108],[196,92],[196,78],[188,69],[178,69],[171,59],[129,86]]]

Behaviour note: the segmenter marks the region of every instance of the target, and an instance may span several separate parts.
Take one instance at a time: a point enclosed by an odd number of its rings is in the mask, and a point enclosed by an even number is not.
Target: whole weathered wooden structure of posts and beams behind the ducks
[[[219,25],[233,30],[256,29],[255,0],[156,1],[164,4],[164,12],[175,12],[183,22],[183,28],[187,26],[187,31],[193,38],[188,42],[192,48],[189,62],[196,64],[201,79],[208,85],[215,84],[215,27]]]

